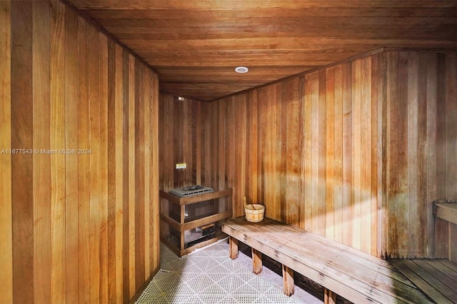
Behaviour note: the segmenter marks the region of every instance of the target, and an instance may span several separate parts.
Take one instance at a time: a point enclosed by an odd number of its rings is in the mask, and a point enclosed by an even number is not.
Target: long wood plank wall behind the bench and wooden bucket
[[[202,151],[216,160],[202,181],[224,178],[233,187],[235,216],[246,195],[270,218],[378,255],[381,57],[205,104],[217,118],[208,118],[216,125],[204,138],[217,146],[225,135],[226,148]]]

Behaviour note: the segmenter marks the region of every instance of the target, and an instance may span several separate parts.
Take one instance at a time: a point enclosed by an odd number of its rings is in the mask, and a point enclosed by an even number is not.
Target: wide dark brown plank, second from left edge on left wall
[[[11,148],[13,149],[32,146],[31,18],[30,1],[11,3]],[[25,303],[27,299],[34,297],[33,280],[29,279],[34,275],[31,166],[31,155],[11,152],[14,303]]]

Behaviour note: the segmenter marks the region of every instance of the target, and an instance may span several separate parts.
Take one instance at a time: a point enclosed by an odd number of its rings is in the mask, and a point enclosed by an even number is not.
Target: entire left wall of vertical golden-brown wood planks
[[[0,302],[126,303],[159,266],[158,76],[60,1],[0,14]]]

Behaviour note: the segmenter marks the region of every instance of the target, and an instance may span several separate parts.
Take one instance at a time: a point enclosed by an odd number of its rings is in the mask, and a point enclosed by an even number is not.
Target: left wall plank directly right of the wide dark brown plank
[[[50,146],[50,11],[49,3],[33,4],[33,148]],[[51,298],[51,157],[34,153],[34,300]],[[3,168],[3,167],[2,167]],[[1,179],[2,183],[4,178]],[[77,185],[76,185],[77,186]],[[77,250],[76,250],[77,253]],[[77,283],[77,281],[76,281]],[[5,301],[8,303],[8,301]]]

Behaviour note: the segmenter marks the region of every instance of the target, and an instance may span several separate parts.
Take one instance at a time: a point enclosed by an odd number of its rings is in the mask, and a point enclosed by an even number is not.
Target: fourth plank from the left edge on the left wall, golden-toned
[[[51,150],[65,148],[65,6],[51,3]],[[65,301],[65,155],[51,157],[51,301]]]

